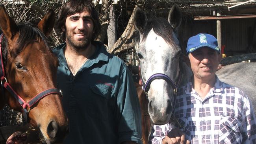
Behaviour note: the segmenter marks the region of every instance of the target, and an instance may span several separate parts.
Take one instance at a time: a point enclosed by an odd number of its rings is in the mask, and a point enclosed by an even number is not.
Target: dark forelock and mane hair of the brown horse
[[[31,42],[38,41],[39,38],[43,40],[48,50],[50,52],[52,51],[47,44],[46,36],[38,28],[36,28],[32,23],[20,22],[17,26],[19,28],[19,38],[17,42],[13,44],[13,46],[15,46],[14,48],[17,49],[17,51],[13,53],[13,57],[17,57],[17,55],[23,50],[23,48],[25,48]],[[2,56],[4,59],[4,63],[6,64],[7,54],[8,54],[8,50],[7,50],[8,43],[6,41],[5,36],[2,39],[1,46],[2,46]]]

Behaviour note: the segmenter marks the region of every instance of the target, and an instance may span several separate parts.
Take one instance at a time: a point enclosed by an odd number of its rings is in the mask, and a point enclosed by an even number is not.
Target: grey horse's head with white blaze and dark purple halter
[[[181,23],[181,12],[174,5],[168,16],[152,18],[140,8],[134,13],[139,40],[135,49],[141,67],[141,80],[148,96],[148,112],[154,124],[166,124],[174,109],[179,79],[179,57],[182,52],[175,35]]]

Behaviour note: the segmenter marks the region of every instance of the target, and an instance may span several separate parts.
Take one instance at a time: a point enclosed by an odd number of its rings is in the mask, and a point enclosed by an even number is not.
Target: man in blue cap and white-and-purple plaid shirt
[[[189,38],[186,50],[193,76],[178,90],[174,112],[182,127],[155,125],[152,144],[256,144],[256,119],[247,95],[215,75],[221,61],[217,39],[199,33]]]

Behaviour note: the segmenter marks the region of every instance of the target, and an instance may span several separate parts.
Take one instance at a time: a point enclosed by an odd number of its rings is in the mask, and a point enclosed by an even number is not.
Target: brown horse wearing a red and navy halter
[[[58,60],[47,45],[54,26],[49,11],[36,27],[16,24],[0,7],[1,85],[0,109],[7,103],[38,127],[48,144],[62,142],[68,133],[68,119],[56,89]]]

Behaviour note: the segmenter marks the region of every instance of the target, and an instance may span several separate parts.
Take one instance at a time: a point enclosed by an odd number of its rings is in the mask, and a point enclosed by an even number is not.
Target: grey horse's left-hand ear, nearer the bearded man
[[[144,33],[145,28],[147,26],[147,16],[141,10],[140,7],[137,7],[137,9],[134,12],[134,25],[135,28],[139,31],[139,33]]]

